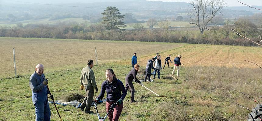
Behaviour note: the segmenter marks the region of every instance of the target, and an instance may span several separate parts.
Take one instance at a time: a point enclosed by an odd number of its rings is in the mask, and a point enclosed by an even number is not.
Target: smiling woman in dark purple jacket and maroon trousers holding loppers
[[[101,92],[96,101],[101,100],[104,97],[104,92],[106,91],[107,113],[111,105],[117,102],[117,106],[115,106],[114,110],[108,114],[109,121],[118,121],[123,109],[123,100],[126,97],[126,89],[124,87],[124,84],[116,78],[113,69],[107,69],[105,74],[107,79],[102,83]]]

